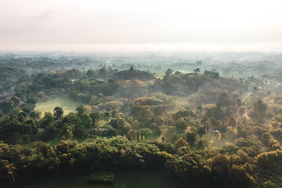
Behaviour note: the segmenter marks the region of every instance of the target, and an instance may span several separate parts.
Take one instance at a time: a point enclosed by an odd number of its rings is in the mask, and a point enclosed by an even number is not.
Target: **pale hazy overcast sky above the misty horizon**
[[[281,0],[0,0],[0,50],[281,52],[281,7]]]

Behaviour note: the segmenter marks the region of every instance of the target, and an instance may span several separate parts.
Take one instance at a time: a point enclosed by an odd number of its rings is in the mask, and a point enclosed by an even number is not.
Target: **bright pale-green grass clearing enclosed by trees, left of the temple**
[[[36,103],[34,110],[39,110],[42,112],[41,117],[44,116],[45,112],[52,112],[56,106],[63,108],[64,115],[67,115],[70,112],[75,112],[75,108],[80,103],[75,103],[73,100],[68,98],[55,98],[47,101],[42,101]]]

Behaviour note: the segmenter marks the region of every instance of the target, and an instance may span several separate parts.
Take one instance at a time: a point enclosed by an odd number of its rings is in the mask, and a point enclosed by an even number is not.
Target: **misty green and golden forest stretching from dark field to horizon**
[[[1,54],[0,184],[149,170],[281,187],[281,65],[257,52]]]

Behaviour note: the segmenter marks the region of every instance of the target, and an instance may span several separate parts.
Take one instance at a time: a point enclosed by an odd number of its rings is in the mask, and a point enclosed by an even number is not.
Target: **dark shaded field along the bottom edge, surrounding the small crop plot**
[[[165,178],[158,172],[116,172],[113,184],[87,183],[87,175],[67,176],[50,175],[41,179],[26,182],[19,188],[207,188],[207,186],[194,186],[182,182],[175,182]]]

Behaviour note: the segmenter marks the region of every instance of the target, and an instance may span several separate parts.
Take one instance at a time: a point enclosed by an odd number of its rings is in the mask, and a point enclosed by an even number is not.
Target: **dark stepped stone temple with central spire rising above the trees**
[[[141,70],[135,70],[132,66],[129,70],[123,70],[112,75],[115,80],[141,80],[150,81],[155,80],[155,76]]]

